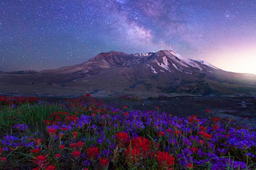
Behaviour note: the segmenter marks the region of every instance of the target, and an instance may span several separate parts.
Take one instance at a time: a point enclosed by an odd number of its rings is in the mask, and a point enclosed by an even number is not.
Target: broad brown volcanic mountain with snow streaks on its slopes
[[[40,93],[48,95],[94,93],[157,96],[256,93],[254,74],[223,71],[208,62],[182,57],[169,50],[146,54],[125,54],[118,51],[101,53],[78,65],[26,75],[26,85],[29,82],[32,84],[30,88],[27,87],[30,91],[37,94],[35,87],[44,88]]]

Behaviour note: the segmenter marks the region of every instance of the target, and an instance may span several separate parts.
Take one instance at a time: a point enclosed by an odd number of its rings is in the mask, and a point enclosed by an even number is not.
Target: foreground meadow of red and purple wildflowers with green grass
[[[229,118],[128,111],[87,95],[0,96],[0,120],[3,170],[256,169],[256,133]]]

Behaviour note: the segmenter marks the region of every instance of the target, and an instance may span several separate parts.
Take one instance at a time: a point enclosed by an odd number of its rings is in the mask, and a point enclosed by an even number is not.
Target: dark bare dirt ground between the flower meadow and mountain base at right
[[[58,102],[66,98],[44,98],[49,102]],[[197,115],[199,119],[217,117],[230,119],[241,125],[248,125],[256,129],[256,99],[244,96],[176,96],[139,99],[137,101],[121,100],[114,97],[102,97],[106,105],[127,111],[156,111],[166,112],[173,116],[186,117]],[[98,99],[98,100],[99,100]],[[209,109],[209,112],[205,110]]]

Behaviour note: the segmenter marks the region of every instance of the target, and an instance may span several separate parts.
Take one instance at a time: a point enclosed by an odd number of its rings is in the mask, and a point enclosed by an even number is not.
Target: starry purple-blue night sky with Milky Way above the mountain
[[[0,71],[172,50],[256,74],[256,0],[0,0]]]

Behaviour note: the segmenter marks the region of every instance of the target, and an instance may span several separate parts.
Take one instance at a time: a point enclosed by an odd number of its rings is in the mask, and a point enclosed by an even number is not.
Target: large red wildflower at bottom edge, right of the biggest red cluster
[[[157,161],[159,170],[167,170],[174,164],[174,157],[169,155],[168,152],[157,151]]]

